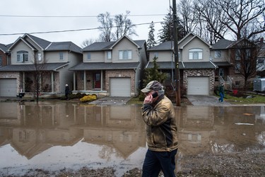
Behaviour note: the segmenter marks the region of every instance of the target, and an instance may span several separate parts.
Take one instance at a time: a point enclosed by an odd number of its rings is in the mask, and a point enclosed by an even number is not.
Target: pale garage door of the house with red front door
[[[110,96],[131,96],[131,79],[130,78],[111,78],[110,79]]]

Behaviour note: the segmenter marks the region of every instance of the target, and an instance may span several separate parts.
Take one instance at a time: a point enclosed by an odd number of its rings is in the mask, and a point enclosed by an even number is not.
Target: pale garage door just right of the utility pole
[[[209,78],[208,77],[188,77],[188,95],[208,95]]]

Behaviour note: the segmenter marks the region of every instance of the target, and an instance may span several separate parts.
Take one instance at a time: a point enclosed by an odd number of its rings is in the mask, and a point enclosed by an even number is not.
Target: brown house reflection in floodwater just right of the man
[[[184,155],[199,154],[211,149],[213,132],[213,109],[211,107],[187,106],[179,113],[179,149]]]

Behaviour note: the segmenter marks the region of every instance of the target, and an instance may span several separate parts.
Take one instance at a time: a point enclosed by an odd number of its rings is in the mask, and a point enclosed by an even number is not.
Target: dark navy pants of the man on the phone
[[[143,161],[143,177],[157,177],[160,170],[165,177],[175,177],[175,155],[177,149],[172,152],[153,152],[148,149],[146,159]]]

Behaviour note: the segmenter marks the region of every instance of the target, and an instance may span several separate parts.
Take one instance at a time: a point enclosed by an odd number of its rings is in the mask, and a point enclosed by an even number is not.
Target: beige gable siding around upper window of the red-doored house
[[[132,59],[119,59],[119,50],[131,50]],[[139,50],[137,46],[127,38],[123,38],[117,43],[112,49],[112,62],[140,62],[139,61]]]

